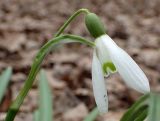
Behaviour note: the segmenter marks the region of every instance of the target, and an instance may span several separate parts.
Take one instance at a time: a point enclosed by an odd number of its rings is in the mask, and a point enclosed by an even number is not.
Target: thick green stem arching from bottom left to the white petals
[[[31,67],[31,70],[30,70],[30,73],[29,73],[29,76],[26,79],[25,84],[24,84],[23,88],[20,90],[20,93],[18,94],[17,98],[9,107],[5,121],[13,121],[14,120],[21,104],[24,101],[24,98],[26,97],[26,95],[28,94],[29,90],[32,87],[34,79],[35,79],[37,73],[39,72],[40,65],[42,64],[42,61],[45,58],[45,56],[47,55],[47,53],[50,52],[52,50],[52,48],[54,48],[58,44],[70,43],[70,42],[79,42],[79,43],[89,45],[91,47],[95,46],[94,43],[91,41],[88,41],[88,40],[86,40],[82,37],[79,37],[79,36],[69,35],[69,34],[62,35],[62,36],[53,38],[50,41],[48,41],[40,49],[37,56],[35,57],[33,64],[32,64],[32,67]]]

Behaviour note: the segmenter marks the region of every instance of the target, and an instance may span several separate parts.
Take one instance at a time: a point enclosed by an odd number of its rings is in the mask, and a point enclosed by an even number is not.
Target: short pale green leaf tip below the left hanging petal
[[[84,121],[94,121],[96,117],[98,116],[99,111],[97,107],[95,107],[89,114],[88,116],[84,119]]]

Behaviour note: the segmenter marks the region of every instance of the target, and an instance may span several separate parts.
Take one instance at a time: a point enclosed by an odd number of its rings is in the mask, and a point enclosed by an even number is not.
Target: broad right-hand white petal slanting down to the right
[[[109,49],[110,58],[126,84],[141,92],[150,92],[149,81],[136,62],[121,48]]]

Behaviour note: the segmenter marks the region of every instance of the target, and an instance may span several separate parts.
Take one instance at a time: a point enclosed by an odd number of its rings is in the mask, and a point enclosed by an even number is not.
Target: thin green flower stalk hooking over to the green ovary
[[[85,13],[88,14],[90,13],[88,11],[88,9],[79,9],[78,11],[76,11],[71,17],[69,17],[69,19],[63,24],[63,26],[58,30],[58,32],[56,33],[55,37],[58,37],[63,31],[64,29],[68,26],[68,24],[75,18],[77,17],[80,13]]]

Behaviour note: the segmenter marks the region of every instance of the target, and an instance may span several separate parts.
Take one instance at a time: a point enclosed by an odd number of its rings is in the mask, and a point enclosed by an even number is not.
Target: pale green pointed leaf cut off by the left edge
[[[5,94],[6,88],[11,78],[11,75],[12,75],[12,68],[8,67],[0,76],[0,103]]]

